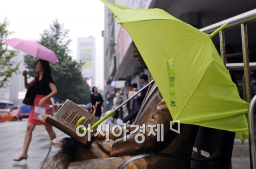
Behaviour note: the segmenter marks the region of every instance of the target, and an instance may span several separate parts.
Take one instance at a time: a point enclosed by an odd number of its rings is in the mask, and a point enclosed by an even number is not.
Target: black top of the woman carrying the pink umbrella
[[[52,92],[49,83],[54,83],[52,76],[48,75],[43,77],[41,80],[37,80],[33,85],[35,94],[48,95]]]

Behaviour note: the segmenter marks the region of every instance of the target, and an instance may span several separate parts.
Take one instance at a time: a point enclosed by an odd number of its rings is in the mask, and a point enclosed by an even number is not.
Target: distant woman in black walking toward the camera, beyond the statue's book
[[[103,98],[100,93],[98,93],[97,87],[92,87],[92,94],[91,94],[91,104],[93,106],[93,109],[96,108],[95,116],[100,117],[101,116],[101,105],[103,103]]]

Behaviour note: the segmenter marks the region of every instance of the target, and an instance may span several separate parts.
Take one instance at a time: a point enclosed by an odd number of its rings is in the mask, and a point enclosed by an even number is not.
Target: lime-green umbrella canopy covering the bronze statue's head
[[[173,120],[248,137],[248,103],[239,97],[209,34],[162,9],[101,1],[131,35]]]

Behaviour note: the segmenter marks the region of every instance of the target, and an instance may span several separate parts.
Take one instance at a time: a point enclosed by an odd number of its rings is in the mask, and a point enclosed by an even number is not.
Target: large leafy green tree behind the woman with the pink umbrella
[[[50,28],[41,34],[39,43],[53,50],[60,61],[59,64],[50,63],[52,76],[58,89],[56,100],[63,102],[70,99],[79,104],[88,103],[90,102],[90,88],[81,74],[83,63],[72,60],[69,55],[68,45],[71,40],[68,33],[69,30],[64,29],[63,24],[55,20]],[[29,69],[28,74],[30,76],[35,75],[36,60],[35,57],[25,56],[26,67]]]

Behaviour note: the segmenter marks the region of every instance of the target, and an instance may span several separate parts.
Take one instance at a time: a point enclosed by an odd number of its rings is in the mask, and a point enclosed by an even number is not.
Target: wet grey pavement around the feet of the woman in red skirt
[[[27,119],[0,123],[0,168],[37,168],[49,150],[50,137],[44,125],[37,125],[33,131],[28,159],[13,161],[22,152]],[[66,134],[54,128],[57,137]]]

